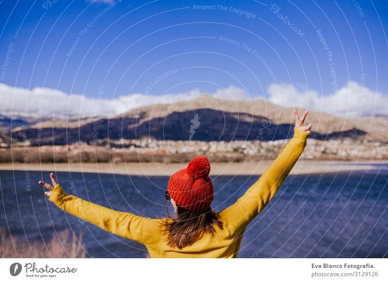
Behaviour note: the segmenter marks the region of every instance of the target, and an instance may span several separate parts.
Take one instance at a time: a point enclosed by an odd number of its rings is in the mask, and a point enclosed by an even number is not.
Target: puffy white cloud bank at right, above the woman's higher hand
[[[337,116],[385,114],[388,96],[373,92],[355,81],[349,81],[336,94],[321,95],[314,90],[291,84],[271,84],[268,101],[284,107],[323,111]]]

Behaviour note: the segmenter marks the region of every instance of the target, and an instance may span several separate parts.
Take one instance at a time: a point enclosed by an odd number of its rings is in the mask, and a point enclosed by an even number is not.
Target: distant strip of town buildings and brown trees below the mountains
[[[386,159],[388,145],[339,137],[321,141],[307,139],[302,158],[311,160]],[[5,142],[0,138],[0,162],[181,162],[206,155],[213,162],[241,162],[275,159],[288,139],[276,141],[169,141],[98,140],[68,145],[31,146],[29,141]],[[11,149],[12,148],[12,149]]]

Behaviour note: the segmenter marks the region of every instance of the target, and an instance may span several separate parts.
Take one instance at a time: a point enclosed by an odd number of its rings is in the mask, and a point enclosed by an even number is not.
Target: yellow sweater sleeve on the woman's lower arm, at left
[[[146,220],[144,217],[115,211],[84,201],[74,195],[68,195],[59,184],[52,190],[49,201],[65,212],[91,222],[105,231],[140,243],[143,242],[142,227]]]

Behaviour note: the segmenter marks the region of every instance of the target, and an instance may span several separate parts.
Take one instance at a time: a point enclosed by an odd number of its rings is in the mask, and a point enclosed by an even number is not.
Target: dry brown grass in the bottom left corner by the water
[[[46,244],[45,244],[46,243]],[[64,230],[52,235],[48,242],[28,242],[25,238],[8,235],[0,229],[0,258],[85,258],[86,249],[79,238]]]

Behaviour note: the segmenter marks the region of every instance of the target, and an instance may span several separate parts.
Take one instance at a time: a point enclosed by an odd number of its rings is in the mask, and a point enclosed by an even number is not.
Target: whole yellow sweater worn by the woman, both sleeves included
[[[98,227],[146,246],[151,258],[237,258],[246,226],[274,197],[306,147],[308,133],[294,128],[294,136],[260,178],[237,200],[219,213],[224,228],[205,234],[182,250],[169,247],[161,234],[161,219],[119,212],[68,195],[58,184],[49,201],[64,211]]]

